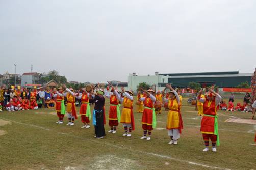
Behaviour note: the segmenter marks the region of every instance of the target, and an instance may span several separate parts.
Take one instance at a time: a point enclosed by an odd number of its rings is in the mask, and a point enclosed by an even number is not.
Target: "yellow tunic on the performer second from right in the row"
[[[180,106],[178,105],[178,101],[175,99],[168,101],[168,118],[167,118],[167,129],[177,129],[180,125],[180,117],[178,110]]]

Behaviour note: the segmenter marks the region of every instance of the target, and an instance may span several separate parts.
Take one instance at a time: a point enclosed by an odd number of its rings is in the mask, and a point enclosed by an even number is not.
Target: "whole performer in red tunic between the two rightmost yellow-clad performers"
[[[153,96],[155,94],[155,91],[152,89],[144,90],[144,92],[147,94],[146,97],[139,98],[140,101],[144,104],[144,110],[142,114],[142,129],[143,129],[143,136],[140,139],[151,139],[151,131],[153,128],[156,128],[156,113],[155,113],[155,102],[156,97]]]

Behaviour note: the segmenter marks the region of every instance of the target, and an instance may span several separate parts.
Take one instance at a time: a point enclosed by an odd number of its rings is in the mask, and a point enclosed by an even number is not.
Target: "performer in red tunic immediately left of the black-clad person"
[[[84,124],[81,128],[90,128],[90,120],[91,120],[91,109],[89,104],[90,94],[86,91],[86,89],[82,89],[82,93],[80,93],[77,99],[81,99],[81,106],[79,110],[79,114],[81,115],[81,121]]]

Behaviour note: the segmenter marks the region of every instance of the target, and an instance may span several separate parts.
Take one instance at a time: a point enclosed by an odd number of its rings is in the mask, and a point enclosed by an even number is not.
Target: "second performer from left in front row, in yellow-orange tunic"
[[[68,114],[68,124],[70,126],[74,126],[74,120],[78,119],[78,116],[76,115],[76,109],[75,109],[75,93],[74,90],[71,88],[67,88],[65,85],[62,87],[65,89],[67,93],[64,93],[63,95],[67,97],[67,114]]]

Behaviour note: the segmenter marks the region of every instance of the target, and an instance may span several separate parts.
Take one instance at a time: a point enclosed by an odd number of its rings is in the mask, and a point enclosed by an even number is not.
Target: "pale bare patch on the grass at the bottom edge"
[[[126,158],[120,158],[115,155],[104,155],[101,157],[95,157],[94,162],[90,165],[92,169],[107,169],[107,170],[121,170],[121,169],[133,169],[138,167],[136,161]]]

